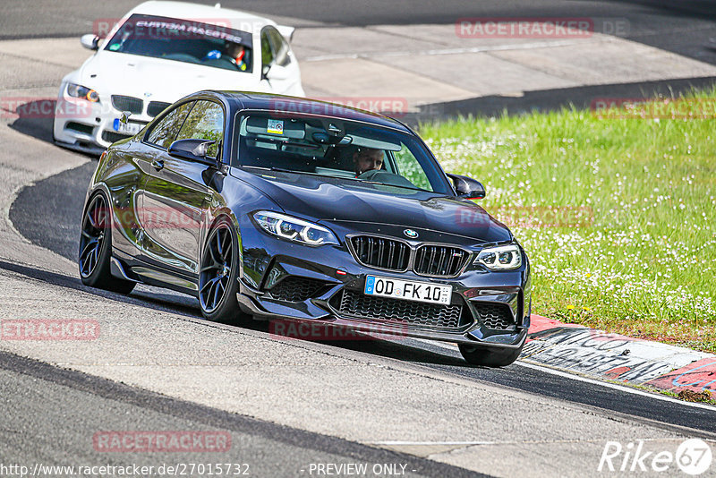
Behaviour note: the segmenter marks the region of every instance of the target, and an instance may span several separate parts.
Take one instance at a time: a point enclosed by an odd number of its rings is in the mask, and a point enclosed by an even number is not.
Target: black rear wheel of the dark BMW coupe
[[[77,260],[82,284],[119,294],[129,294],[135,283],[112,276],[109,271],[111,255],[111,209],[106,196],[98,192],[87,202],[87,207],[82,214],[80,253]]]

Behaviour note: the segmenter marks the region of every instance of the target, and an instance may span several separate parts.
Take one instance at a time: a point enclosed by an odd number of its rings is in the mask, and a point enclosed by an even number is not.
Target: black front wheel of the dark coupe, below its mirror
[[[247,319],[236,300],[238,274],[236,229],[228,218],[221,218],[209,231],[200,259],[199,303],[207,320],[235,323]]]

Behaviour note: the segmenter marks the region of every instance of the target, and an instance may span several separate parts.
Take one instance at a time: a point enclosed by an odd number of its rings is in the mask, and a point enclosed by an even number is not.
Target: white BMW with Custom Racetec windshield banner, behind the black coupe
[[[81,38],[95,54],[60,85],[55,142],[101,152],[197,90],[303,97],[293,30],[218,4],[140,4],[106,38]],[[124,112],[132,114],[128,122],[119,120]]]

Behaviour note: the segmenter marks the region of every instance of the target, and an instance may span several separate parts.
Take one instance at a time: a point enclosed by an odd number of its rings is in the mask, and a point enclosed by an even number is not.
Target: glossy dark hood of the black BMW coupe
[[[281,172],[253,175],[246,171],[237,175],[245,175],[245,181],[268,194],[287,214],[299,218],[353,229],[360,224],[365,232],[397,227],[401,231],[413,228],[461,236],[469,242],[512,240],[507,226],[472,201],[326,176]],[[402,236],[402,232],[398,234]],[[422,235],[423,240],[429,237]]]

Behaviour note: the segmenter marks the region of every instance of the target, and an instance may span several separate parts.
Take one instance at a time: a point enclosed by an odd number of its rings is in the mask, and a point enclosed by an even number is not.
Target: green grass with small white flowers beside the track
[[[716,120],[699,119],[716,88],[684,104],[693,117],[572,108],[420,132],[524,245],[534,313],[716,352]]]

